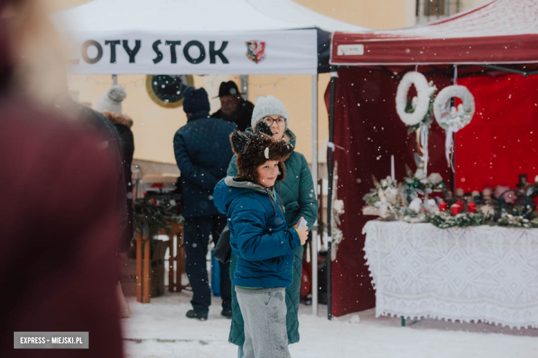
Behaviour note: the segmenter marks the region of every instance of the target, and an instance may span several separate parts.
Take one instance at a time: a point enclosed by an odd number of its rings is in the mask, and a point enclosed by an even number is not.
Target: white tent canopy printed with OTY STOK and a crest
[[[316,28],[365,30],[291,0],[94,0],[54,21],[77,74],[316,74]]]

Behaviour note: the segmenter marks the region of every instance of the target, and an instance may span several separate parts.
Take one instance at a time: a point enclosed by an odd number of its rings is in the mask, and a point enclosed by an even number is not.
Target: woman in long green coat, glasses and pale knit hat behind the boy
[[[274,96],[260,97],[256,101],[254,112],[252,112],[252,127],[255,127],[259,120],[265,121],[271,128],[273,137],[276,139],[285,138],[295,147],[295,134],[288,129],[289,116],[283,103]],[[247,129],[247,131],[250,129]],[[235,165],[236,156],[233,156],[228,167],[228,176],[237,176],[237,166]],[[303,154],[293,151],[290,157],[284,162],[286,165],[286,178],[283,182],[275,187],[282,198],[286,209],[286,219],[288,226],[292,227],[299,222],[301,216],[308,222],[308,228],[317,219],[318,203],[314,191],[314,182],[312,174],[308,167],[308,162]],[[230,277],[234,274],[237,256],[230,257]],[[288,328],[288,344],[299,341],[299,319],[297,313],[299,310],[299,293],[301,291],[301,273],[303,267],[303,246],[295,250],[293,260],[293,281],[291,286],[286,288],[286,326]],[[235,288],[232,287],[232,326],[230,328],[230,337],[228,341],[239,346],[239,357],[242,356],[245,333],[243,329],[243,317]]]

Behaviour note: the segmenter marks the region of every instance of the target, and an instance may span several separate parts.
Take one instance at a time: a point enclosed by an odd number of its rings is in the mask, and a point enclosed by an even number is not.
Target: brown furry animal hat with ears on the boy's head
[[[293,145],[286,140],[272,138],[272,131],[267,123],[260,121],[253,131],[234,131],[230,135],[232,151],[237,154],[237,177],[259,184],[257,169],[267,160],[279,162],[279,176],[277,181],[284,180],[286,165],[293,151]]]

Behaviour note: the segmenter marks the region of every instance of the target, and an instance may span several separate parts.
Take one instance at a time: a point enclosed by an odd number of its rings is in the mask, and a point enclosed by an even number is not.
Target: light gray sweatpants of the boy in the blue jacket
[[[244,358],[290,358],[286,289],[235,286],[245,321]]]

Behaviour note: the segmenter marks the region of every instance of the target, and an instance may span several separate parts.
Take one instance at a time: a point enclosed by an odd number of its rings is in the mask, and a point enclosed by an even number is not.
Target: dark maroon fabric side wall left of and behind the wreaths
[[[375,306],[361,230],[372,216],[361,214],[362,197],[373,187],[372,174],[381,180],[390,176],[390,155],[395,156],[397,180],[406,176],[405,165],[415,170],[415,134],[407,134],[396,113],[395,96],[399,79],[379,67],[338,70],[335,101],[334,159],[338,165],[337,198],[344,202],[339,244],[332,266],[332,314],[357,312]],[[429,76],[441,88],[449,78]],[[328,107],[329,89],[326,91]],[[428,172],[438,172],[450,187],[450,173],[444,159],[444,131],[432,125]]]

